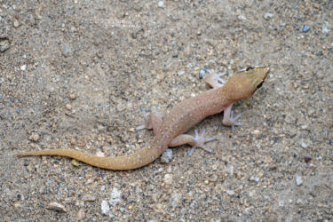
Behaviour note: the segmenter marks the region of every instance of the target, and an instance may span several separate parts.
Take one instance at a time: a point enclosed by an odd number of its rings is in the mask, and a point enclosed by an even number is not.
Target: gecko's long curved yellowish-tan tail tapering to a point
[[[161,149],[147,147],[139,150],[133,155],[123,155],[117,157],[100,157],[96,155],[88,155],[81,151],[71,149],[48,149],[36,152],[24,152],[17,156],[28,155],[61,155],[73,158],[75,160],[87,163],[91,166],[107,169],[107,170],[132,170],[152,163],[158,156],[163,153]]]

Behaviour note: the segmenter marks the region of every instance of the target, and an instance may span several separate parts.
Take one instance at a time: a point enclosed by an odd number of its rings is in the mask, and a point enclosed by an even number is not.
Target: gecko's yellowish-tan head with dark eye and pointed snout
[[[268,73],[268,67],[247,67],[234,73],[224,85],[224,88],[235,101],[249,98],[261,87]]]

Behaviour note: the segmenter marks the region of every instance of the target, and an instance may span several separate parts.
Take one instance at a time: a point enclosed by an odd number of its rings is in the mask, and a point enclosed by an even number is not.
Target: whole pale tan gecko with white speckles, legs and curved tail
[[[240,115],[234,117],[232,111],[234,102],[250,98],[262,85],[268,73],[268,67],[247,67],[235,72],[226,83],[221,78],[224,74],[212,72],[206,75],[204,81],[210,84],[212,89],[178,103],[165,118],[157,113],[152,113],[146,124],[137,127],[137,130],[153,130],[155,137],[149,146],[132,155],[102,157],[71,149],[48,149],[24,152],[17,154],[17,156],[60,155],[102,169],[133,170],[154,162],[168,147],[189,144],[192,147],[202,147],[211,152],[204,144],[214,138],[205,139],[204,130],[201,135],[195,131],[195,137],[184,133],[207,116],[222,111],[224,111],[222,120],[224,125],[232,127],[240,125],[241,123],[237,123]]]

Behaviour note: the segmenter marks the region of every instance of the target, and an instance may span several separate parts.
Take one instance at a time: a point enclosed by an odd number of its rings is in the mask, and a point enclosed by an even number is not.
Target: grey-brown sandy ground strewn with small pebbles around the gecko
[[[91,2],[0,1],[2,221],[333,218],[332,1]],[[236,103],[242,127],[196,126],[213,154],[130,171],[15,156],[132,154],[153,138],[133,131],[142,107],[206,91],[201,69],[258,65],[271,73]]]

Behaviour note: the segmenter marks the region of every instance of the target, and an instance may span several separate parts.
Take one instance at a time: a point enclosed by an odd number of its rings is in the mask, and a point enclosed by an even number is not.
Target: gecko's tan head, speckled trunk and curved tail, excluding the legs
[[[76,150],[51,149],[21,153],[18,156],[61,155],[108,170],[140,168],[152,163],[163,154],[167,147],[190,143],[186,137],[182,137],[184,132],[207,116],[218,114],[230,105],[232,106],[235,101],[249,98],[256,91],[258,85],[264,81],[268,72],[269,69],[266,67],[249,68],[249,70],[234,74],[223,87],[205,91],[194,98],[182,101],[171,109],[170,114],[155,131],[155,138],[150,147],[143,148],[133,155],[99,157]],[[213,85],[213,83],[210,84]],[[225,124],[228,124],[227,122],[224,120]]]

